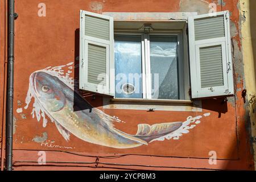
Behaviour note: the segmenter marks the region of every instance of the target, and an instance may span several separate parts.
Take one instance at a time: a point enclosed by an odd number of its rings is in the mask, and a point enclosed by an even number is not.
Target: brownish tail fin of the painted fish
[[[139,124],[137,134],[134,137],[144,140],[147,143],[156,138],[170,134],[182,126],[182,122],[159,123],[154,125]]]

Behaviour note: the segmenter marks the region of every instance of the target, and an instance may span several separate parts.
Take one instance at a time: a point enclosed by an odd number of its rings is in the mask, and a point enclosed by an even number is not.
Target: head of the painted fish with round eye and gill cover
[[[59,78],[46,72],[34,72],[30,76],[32,90],[47,111],[59,111],[65,106],[66,98],[61,83]]]

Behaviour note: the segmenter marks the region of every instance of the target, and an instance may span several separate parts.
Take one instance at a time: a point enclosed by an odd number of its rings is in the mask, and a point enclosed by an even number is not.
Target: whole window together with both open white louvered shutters
[[[189,17],[188,35],[177,27],[81,10],[80,89],[147,100],[233,94],[229,12]]]

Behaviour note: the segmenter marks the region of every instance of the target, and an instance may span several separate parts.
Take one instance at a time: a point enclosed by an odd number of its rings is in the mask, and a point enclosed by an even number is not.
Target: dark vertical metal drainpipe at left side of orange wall
[[[8,64],[6,97],[6,151],[5,169],[13,170],[13,93],[14,93],[14,0],[8,0]]]

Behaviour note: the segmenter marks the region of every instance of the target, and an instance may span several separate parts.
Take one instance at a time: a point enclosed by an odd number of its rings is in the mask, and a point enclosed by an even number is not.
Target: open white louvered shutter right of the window
[[[188,18],[192,98],[234,94],[229,11]]]

